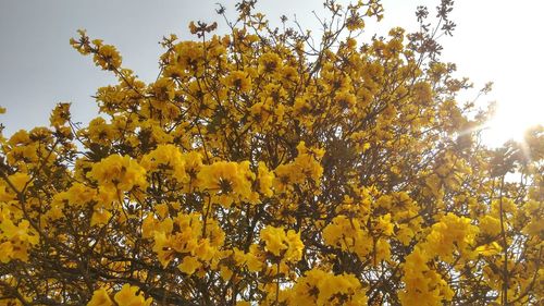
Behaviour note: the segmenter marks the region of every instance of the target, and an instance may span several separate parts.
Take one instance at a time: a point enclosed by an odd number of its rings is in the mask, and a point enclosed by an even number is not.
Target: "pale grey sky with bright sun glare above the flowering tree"
[[[75,121],[88,122],[98,108],[91,96],[115,78],[96,68],[90,57],[77,53],[69,44],[76,29],[85,28],[92,38],[116,46],[123,66],[144,81],[157,77],[158,41],[171,33],[191,39],[190,21],[219,21],[217,2],[233,13],[232,0],[0,0],[0,115],[4,135],[20,128],[47,125],[55,103],[72,102]],[[284,14],[317,32],[320,0],[260,0],[258,8],[271,21]],[[348,1],[339,1],[347,3]],[[415,28],[417,5],[434,13],[440,0],[383,0],[384,20],[366,29],[386,33],[393,26]],[[497,101],[493,137],[518,125],[541,122],[544,100],[541,94],[544,63],[540,37],[544,29],[544,1],[539,0],[457,0],[452,19],[457,24],[454,37],[444,37],[443,60],[455,62],[458,76],[468,76],[477,88],[494,82],[491,95],[479,101]],[[475,94],[474,94],[475,96]],[[472,96],[460,97],[472,99]],[[460,101],[462,102],[462,100]],[[502,126],[502,127],[500,127]],[[490,136],[491,139],[491,136]],[[491,140],[490,140],[491,142]]]

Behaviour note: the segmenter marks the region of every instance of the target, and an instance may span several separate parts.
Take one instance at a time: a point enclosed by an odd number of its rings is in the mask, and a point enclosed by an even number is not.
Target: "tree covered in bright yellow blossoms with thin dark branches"
[[[376,0],[326,1],[317,42],[254,7],[165,37],[150,84],[71,40],[119,83],[88,125],[59,103],[1,138],[0,304],[542,303],[543,130],[481,145],[452,1],[362,45]]]

